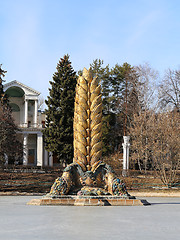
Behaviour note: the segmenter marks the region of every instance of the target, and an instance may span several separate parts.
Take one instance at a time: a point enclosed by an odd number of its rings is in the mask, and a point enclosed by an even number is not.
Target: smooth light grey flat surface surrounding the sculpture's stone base
[[[0,197],[0,239],[180,239],[180,198],[147,198],[151,206],[137,207],[26,205],[32,198]]]

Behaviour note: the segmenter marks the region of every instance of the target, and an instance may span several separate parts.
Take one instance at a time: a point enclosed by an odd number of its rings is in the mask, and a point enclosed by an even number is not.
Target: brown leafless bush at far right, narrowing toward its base
[[[180,114],[166,112],[155,115],[150,133],[154,169],[169,187],[176,182],[180,167]]]

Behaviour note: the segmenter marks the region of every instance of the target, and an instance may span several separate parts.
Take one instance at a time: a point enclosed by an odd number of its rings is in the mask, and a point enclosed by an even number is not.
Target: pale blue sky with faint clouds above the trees
[[[148,62],[163,75],[180,66],[179,0],[0,0],[0,63],[46,98],[64,54],[77,71]]]

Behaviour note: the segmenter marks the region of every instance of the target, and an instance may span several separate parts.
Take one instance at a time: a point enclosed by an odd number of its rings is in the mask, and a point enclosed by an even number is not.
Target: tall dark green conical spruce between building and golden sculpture
[[[50,81],[46,125],[43,131],[45,147],[57,156],[60,162],[73,160],[73,116],[76,73],[71,66],[69,55],[57,64],[57,71]]]

